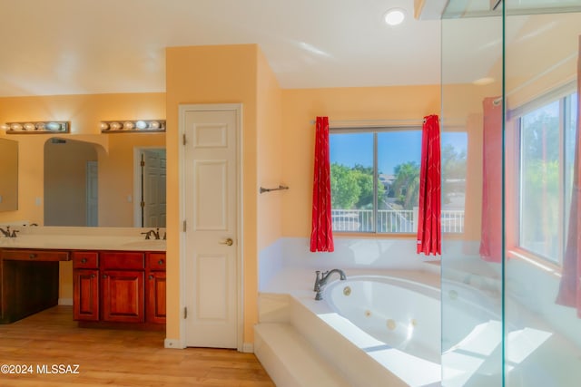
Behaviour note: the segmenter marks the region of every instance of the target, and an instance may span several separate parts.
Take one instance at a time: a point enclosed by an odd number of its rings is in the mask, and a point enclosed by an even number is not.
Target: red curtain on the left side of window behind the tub
[[[317,117],[316,125],[310,251],[333,251],[335,247],[330,217],[329,117]]]

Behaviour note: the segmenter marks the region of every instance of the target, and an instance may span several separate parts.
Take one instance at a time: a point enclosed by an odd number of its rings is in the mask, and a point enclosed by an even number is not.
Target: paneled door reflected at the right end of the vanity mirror
[[[165,150],[143,150],[142,161],[142,227],[165,227]]]

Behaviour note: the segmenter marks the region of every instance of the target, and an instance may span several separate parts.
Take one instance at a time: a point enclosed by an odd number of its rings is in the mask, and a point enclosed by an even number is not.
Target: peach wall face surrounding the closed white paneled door
[[[167,338],[180,338],[180,104],[241,103],[243,148],[244,343],[253,341],[257,319],[257,62],[256,44],[170,47],[167,96]]]

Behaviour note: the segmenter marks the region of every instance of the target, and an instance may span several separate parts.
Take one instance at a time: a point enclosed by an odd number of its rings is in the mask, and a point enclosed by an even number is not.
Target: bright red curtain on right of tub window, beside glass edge
[[[419,169],[418,254],[441,255],[441,173],[437,115],[424,117]]]

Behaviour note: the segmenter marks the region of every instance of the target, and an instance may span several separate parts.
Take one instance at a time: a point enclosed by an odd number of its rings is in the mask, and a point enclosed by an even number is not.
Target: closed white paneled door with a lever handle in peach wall
[[[185,344],[237,348],[240,106],[182,109]]]

